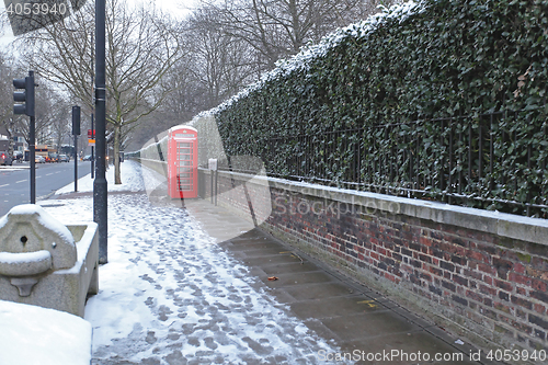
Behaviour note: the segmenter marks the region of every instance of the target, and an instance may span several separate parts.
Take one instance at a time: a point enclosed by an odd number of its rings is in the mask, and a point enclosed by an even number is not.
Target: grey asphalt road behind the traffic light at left
[[[78,163],[78,176],[90,173],[89,161]],[[90,178],[91,179],[91,178]],[[31,201],[28,162],[0,167],[0,217],[13,206]],[[75,181],[75,161],[36,163],[36,201],[48,198],[57,190]]]

